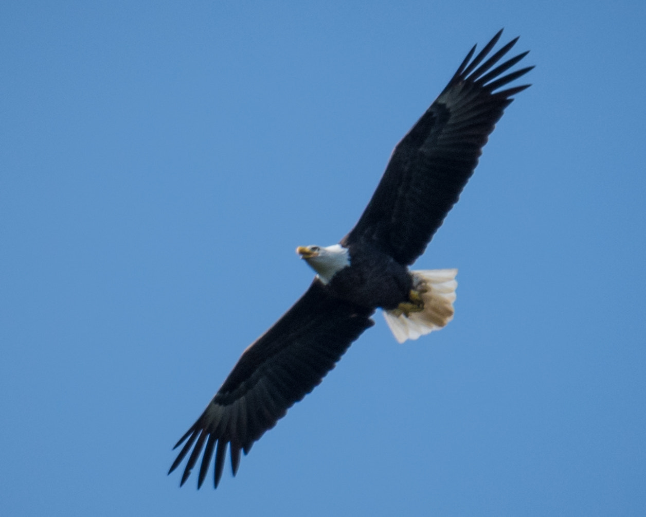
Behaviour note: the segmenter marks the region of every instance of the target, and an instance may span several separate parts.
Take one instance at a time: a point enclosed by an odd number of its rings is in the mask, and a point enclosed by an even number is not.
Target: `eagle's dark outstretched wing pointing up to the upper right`
[[[526,56],[523,52],[490,70],[518,38],[483,63],[502,32],[469,62],[475,47],[471,49],[437,100],[397,144],[366,210],[341,241],[344,246],[368,241],[405,265],[424,253],[474,173],[503,110],[514,94],[529,87],[495,91],[534,68],[503,75]]]

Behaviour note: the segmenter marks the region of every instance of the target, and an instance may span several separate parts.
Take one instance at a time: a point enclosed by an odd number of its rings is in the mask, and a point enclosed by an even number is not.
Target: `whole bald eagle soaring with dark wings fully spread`
[[[200,454],[198,488],[215,453],[214,486],[227,446],[235,476],[240,452],[311,392],[350,344],[373,326],[377,308],[397,341],[443,328],[453,317],[456,269],[411,271],[473,174],[481,150],[512,96],[500,90],[533,67],[505,72],[527,52],[497,63],[513,39],[489,56],[502,30],[475,47],[439,97],[397,144],[370,203],[339,244],[299,246],[317,273],[306,293],[251,344],[202,416],[182,436],[169,474],[189,454],[180,486]],[[497,65],[497,66],[495,66]]]

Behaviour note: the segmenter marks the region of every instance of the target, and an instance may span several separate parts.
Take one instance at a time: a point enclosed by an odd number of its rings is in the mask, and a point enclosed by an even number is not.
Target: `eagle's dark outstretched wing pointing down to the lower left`
[[[374,324],[370,319],[373,312],[330,297],[321,282],[314,280],[300,300],[242,353],[202,416],[175,445],[177,448],[188,439],[169,474],[193,448],[182,475],[183,485],[204,448],[198,488],[214,451],[217,487],[230,444],[235,475],[240,450],[247,454],[289,407],[320,383],[350,344]]]

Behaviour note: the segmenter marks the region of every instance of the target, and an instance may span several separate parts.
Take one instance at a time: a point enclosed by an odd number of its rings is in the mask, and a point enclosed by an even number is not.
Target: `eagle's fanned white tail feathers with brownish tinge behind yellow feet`
[[[399,343],[439,330],[453,319],[457,269],[424,269],[411,274],[413,290],[420,293],[424,308],[410,311],[408,316],[401,309],[384,311],[386,323]]]

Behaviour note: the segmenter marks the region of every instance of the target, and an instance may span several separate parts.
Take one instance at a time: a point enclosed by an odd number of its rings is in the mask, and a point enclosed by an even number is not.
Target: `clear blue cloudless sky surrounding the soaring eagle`
[[[646,3],[5,1],[0,514],[646,514]],[[217,491],[172,445],[505,27],[536,65],[418,269]],[[209,480],[211,475],[209,474]]]

